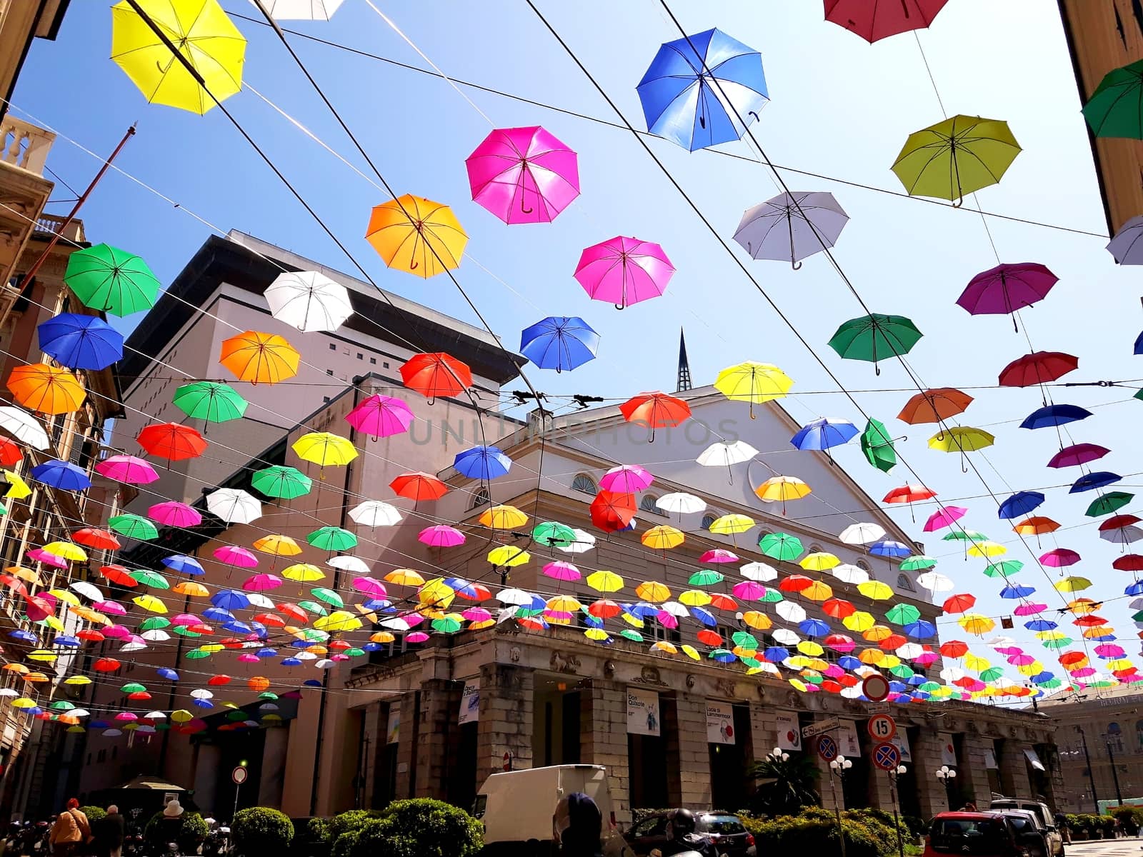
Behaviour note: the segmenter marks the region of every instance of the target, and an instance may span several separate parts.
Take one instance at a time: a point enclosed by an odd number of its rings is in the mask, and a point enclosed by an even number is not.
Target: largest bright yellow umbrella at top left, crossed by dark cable
[[[139,8],[224,101],[242,88],[246,39],[217,0],[139,0]],[[206,113],[214,98],[129,3],[111,8],[111,58],[152,104]]]

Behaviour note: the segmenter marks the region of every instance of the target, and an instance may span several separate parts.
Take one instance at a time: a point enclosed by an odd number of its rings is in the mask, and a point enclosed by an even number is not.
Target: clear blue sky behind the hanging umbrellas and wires
[[[450,75],[615,119],[522,2],[375,2]],[[223,231],[239,229],[352,272],[349,261],[219,111],[201,118],[143,101],[107,58],[107,7],[96,0],[73,2],[58,40],[35,43],[14,95],[17,113],[26,111],[97,153],[110,151],[126,127],[138,121],[138,136],[119,161],[125,170]],[[258,14],[242,0],[225,0],[224,7]],[[636,83],[658,45],[678,38],[657,0],[574,5],[545,0],[541,7],[624,113],[644,127]],[[772,103],[754,131],[777,165],[900,191],[889,166],[902,143],[909,133],[943,118],[912,34],[870,46],[824,23],[817,2],[676,1],[672,8],[689,32],[718,26],[761,51]],[[366,169],[277,38],[263,26],[237,23],[250,39],[246,82]],[[328,24],[289,26],[424,65],[363,0],[346,0]],[[399,192],[453,205],[469,231],[472,259],[523,296],[471,261],[459,270],[461,282],[506,344],[517,345],[521,328],[549,314],[582,315],[600,331],[599,360],[574,374],[533,370],[541,390],[605,397],[672,390],[682,326],[696,384],[711,383],[720,368],[741,360],[773,362],[796,379],[796,392],[802,391],[785,402],[796,418],[828,415],[863,423],[845,397],[807,394],[836,387],[630,134],[469,93],[496,126],[542,123],[580,153],[583,195],[572,209],[550,226],[507,227],[470,201],[464,158],[489,125],[447,83],[303,39],[291,38],[291,43]],[[949,114],[1007,120],[1023,146],[1000,185],[978,194],[981,206],[1102,232],[1095,174],[1055,6],[951,0],[935,25],[920,33],[920,43]],[[363,241],[369,208],[384,201],[379,192],[253,93],[226,104],[379,285],[473,320],[447,279],[425,282],[389,272]],[[654,141],[653,146],[725,237],[734,232],[745,208],[777,193],[761,165],[710,152],[688,153],[665,141]],[[722,149],[751,154],[745,142]],[[96,160],[63,139],[48,163],[74,187],[97,168]],[[1023,334],[1013,331],[1007,317],[972,318],[953,303],[975,273],[996,264],[978,215],[828,179],[794,174],[785,178],[792,190],[832,191],[850,215],[836,256],[873,311],[908,315],[926,334],[909,357],[926,385],[993,385],[999,370],[1028,351]],[[70,194],[59,186],[56,195]],[[142,254],[165,281],[209,234],[185,211],[118,174],[105,179],[82,217],[91,240]],[[1025,311],[1024,320],[1037,349],[1080,355],[1080,370],[1069,379],[1143,376],[1138,359],[1132,357],[1132,343],[1143,325],[1137,277],[1133,269],[1117,269],[1103,249],[1105,238],[997,219],[990,221],[990,229],[1001,259],[1041,262],[1060,277],[1048,299]],[[572,279],[583,247],[620,233],[658,241],[678,269],[666,296],[624,312],[589,301]],[[807,259],[798,272],[783,263],[749,264],[846,386],[870,391],[857,394],[862,407],[887,421],[895,434],[908,435],[900,448],[920,476],[945,502],[973,498],[958,503],[970,508],[966,526],[1010,542],[1013,534],[997,520],[989,491],[1004,497],[1012,490],[1049,487],[1048,502],[1038,513],[1055,518],[1065,529],[1057,542],[1045,538],[1044,550],[1058,544],[1082,554],[1084,562],[1073,570],[1096,583],[1082,594],[1102,599],[1122,593],[1129,575],[1110,567],[1119,548],[1101,542],[1096,522],[1082,515],[1095,495],[1069,497],[1066,487],[1060,486],[1078,473],[1045,466],[1058,448],[1054,432],[1017,427],[1040,405],[1039,392],[974,391],[977,400],[964,415],[964,424],[997,435],[996,447],[975,456],[985,488],[975,474],[961,473],[956,456],[926,448],[932,432],[925,426],[892,419],[909,397],[902,389],[910,382],[901,367],[885,365],[874,376],[872,366],[841,361],[828,349],[837,326],[862,310],[824,257]],[[894,389],[900,392],[879,392]],[[1133,392],[1134,387],[1078,387],[1054,393],[1058,402],[1094,410],[1094,417],[1071,426],[1070,433],[1076,441],[1111,447],[1114,452],[1102,464],[1121,474],[1143,471],[1133,454],[1143,403],[1130,400]],[[903,467],[888,475],[870,468],[856,444],[836,451],[874,498],[904,479]],[[769,462],[790,475],[798,473],[794,452],[775,455]],[[1129,476],[1124,482],[1128,486],[1124,490],[1134,490],[1143,480]],[[1125,511],[1141,507],[1135,504]],[[920,521],[912,524],[908,513],[901,520],[922,536]],[[1000,615],[1015,606],[988,594],[998,587],[980,575],[981,561],[964,562],[954,547],[932,536],[921,540],[930,554],[942,558],[940,570],[958,580],[957,591],[980,595],[982,611]],[[1044,601],[1060,606],[1023,546],[1016,542],[1009,547],[1010,558],[1029,563],[1017,579],[1036,585]],[[1129,612],[1126,600],[1105,610],[1134,652]],[[1028,641],[1030,650],[1042,651],[1048,668],[1058,672],[1052,654],[1039,649],[1030,632],[1017,625],[1013,635]]]

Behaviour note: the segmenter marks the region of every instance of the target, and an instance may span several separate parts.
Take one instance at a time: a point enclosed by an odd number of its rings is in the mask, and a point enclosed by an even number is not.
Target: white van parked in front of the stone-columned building
[[[582,792],[604,816],[606,857],[633,857],[615,824],[607,769],[599,764],[553,764],[493,774],[477,794],[472,815],[485,825],[488,857],[552,854],[552,817],[566,794]]]

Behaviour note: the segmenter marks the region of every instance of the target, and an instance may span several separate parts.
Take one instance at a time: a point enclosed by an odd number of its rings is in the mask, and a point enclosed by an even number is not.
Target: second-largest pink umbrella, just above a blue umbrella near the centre
[[[622,310],[662,295],[673,273],[674,265],[658,245],[616,237],[583,251],[575,279],[593,299]]]

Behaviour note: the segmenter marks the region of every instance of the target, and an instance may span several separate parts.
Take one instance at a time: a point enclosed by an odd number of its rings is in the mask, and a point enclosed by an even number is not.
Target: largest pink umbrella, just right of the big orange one
[[[504,223],[550,223],[580,195],[576,154],[538,126],[497,128],[467,157],[473,201]]]

